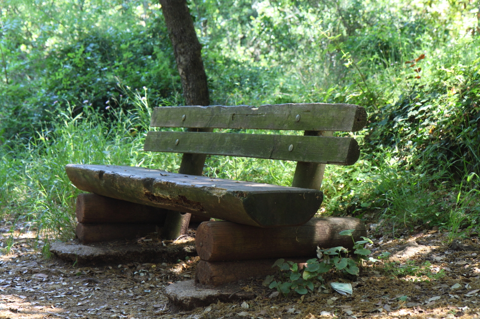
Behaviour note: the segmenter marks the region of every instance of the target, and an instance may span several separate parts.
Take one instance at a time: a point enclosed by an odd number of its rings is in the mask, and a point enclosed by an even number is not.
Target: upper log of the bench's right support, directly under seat
[[[211,221],[200,224],[195,245],[205,261],[315,257],[317,246],[351,248],[352,238],[338,234],[346,229],[356,230],[355,240],[367,236],[362,221],[352,217],[312,218],[302,226],[275,229]]]

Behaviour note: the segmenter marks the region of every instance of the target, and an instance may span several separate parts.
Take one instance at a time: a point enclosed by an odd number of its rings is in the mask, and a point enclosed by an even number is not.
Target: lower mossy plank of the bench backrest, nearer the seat
[[[360,156],[358,143],[351,137],[171,131],[148,132],[144,150],[337,165],[352,165]]]

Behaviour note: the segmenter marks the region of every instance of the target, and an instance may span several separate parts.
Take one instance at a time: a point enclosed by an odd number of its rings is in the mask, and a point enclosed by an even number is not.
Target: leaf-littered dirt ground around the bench
[[[10,233],[6,226],[0,231],[5,247]],[[46,258],[35,249],[34,233],[15,233],[11,253],[0,257],[0,319],[479,318],[480,246],[476,238],[448,245],[446,234],[424,230],[394,239],[372,230],[369,235],[378,237],[369,247],[373,256],[391,255],[358,277],[325,276],[324,287],[303,298],[276,296],[262,279],[252,279],[241,287],[255,292],[254,300],[175,312],[165,287],[192,279],[198,257],[78,266]],[[331,281],[352,283],[353,294],[335,292]]]

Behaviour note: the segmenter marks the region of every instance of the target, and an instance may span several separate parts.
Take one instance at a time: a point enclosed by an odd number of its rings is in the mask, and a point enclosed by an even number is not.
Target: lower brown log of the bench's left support
[[[157,230],[153,223],[144,224],[77,224],[77,237],[83,244],[144,237]]]

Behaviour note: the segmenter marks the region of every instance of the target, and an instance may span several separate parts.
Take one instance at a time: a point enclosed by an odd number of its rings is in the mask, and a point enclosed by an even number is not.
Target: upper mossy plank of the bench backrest
[[[259,107],[157,107],[154,109],[150,126],[358,131],[366,124],[367,113],[363,107],[357,105],[291,103]]]

